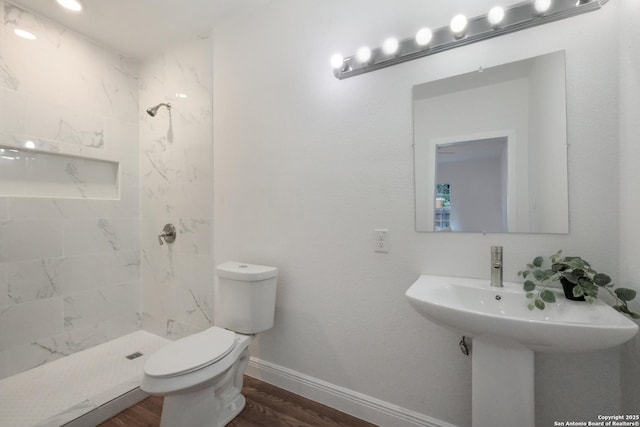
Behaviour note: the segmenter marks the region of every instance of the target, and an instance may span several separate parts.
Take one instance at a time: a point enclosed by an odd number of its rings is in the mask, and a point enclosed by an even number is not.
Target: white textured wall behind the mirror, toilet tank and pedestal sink
[[[254,356],[465,426],[470,359],[460,337],[421,318],[404,291],[421,273],[488,278],[491,245],[504,246],[509,280],[559,248],[617,276],[619,196],[609,190],[618,184],[618,5],[333,77],[328,58],[336,50],[438,27],[457,6],[282,0],[215,32],[214,253],[216,263],[280,268],[276,325],[257,338]],[[481,6],[468,5],[468,13]],[[412,86],[560,49],[570,234],[414,232]],[[373,252],[371,230],[379,227],[390,230],[389,254]],[[617,350],[537,356],[538,424],[617,413],[619,368]],[[576,390],[589,392],[575,399]]]

